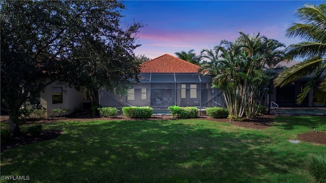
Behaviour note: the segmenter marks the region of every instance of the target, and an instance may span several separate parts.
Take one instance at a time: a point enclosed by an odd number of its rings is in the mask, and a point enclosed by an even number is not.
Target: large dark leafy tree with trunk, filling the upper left
[[[123,92],[138,78],[138,29],[120,25],[120,1],[1,1],[1,100],[19,135],[24,105],[52,82]],[[43,79],[42,79],[43,78]],[[46,78],[46,80],[44,79]]]

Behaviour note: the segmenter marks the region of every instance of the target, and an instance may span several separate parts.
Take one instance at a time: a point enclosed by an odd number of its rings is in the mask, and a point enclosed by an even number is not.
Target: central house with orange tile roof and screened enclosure
[[[198,74],[199,66],[165,54],[140,65],[140,83],[127,96],[100,90],[101,107],[169,106],[225,107],[221,89],[211,88],[210,77]]]

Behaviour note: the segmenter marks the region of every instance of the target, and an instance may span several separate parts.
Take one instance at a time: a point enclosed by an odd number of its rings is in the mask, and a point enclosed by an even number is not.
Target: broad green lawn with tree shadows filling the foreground
[[[29,182],[312,182],[305,159],[324,154],[326,145],[287,140],[326,131],[324,120],[276,117],[264,130],[195,119],[44,124],[65,133],[4,151],[1,175],[28,175]]]

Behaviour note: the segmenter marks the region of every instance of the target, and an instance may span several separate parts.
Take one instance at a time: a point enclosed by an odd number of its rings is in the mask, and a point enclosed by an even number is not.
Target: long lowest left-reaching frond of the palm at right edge
[[[319,56],[313,57],[286,69],[274,80],[275,86],[284,86],[289,82],[314,73],[316,68],[323,65],[323,61],[324,59]]]

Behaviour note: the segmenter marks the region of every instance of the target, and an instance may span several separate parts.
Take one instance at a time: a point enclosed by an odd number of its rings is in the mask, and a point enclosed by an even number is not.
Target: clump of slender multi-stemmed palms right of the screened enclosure
[[[213,76],[214,87],[222,89],[232,120],[256,114],[260,88],[268,85],[263,69],[282,60],[283,52],[278,48],[284,46],[259,33],[239,33],[241,36],[235,42],[223,40],[214,50],[203,49],[202,58],[207,61],[200,69]]]

